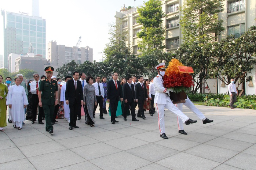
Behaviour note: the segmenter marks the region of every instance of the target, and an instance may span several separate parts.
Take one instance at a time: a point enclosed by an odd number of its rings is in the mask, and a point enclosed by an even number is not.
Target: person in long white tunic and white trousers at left
[[[25,120],[24,108],[29,104],[25,88],[20,86],[21,79],[15,78],[15,84],[9,88],[6,104],[11,109],[12,124],[18,130],[22,129],[22,121]]]

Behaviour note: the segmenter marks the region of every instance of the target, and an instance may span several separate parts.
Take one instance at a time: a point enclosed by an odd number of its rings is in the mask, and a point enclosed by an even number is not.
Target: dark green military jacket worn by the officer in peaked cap
[[[54,105],[55,91],[58,90],[58,83],[56,80],[51,79],[51,83],[48,81],[48,79],[41,80],[39,82],[39,91],[41,91],[42,104]]]

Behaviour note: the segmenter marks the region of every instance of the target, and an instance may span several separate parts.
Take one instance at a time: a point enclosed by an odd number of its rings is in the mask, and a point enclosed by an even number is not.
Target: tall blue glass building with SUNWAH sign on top
[[[41,54],[45,58],[45,19],[28,13],[3,12],[4,16],[4,68],[8,69],[10,53]],[[32,47],[32,48],[31,48]]]

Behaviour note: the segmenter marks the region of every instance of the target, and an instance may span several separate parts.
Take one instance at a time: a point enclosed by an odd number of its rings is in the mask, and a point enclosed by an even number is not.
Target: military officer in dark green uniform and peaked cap
[[[53,67],[46,67],[44,69],[46,79],[41,79],[39,82],[39,106],[44,109],[45,114],[45,131],[53,133],[52,118],[54,115],[54,106],[58,103],[58,83],[51,79]]]

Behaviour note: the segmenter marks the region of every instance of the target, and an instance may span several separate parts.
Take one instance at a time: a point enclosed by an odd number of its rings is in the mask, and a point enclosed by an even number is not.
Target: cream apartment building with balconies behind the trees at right
[[[183,2],[184,0],[162,0],[161,7],[166,14],[165,18],[162,18],[162,23],[166,26],[165,40],[163,42],[166,45],[166,52],[174,52],[182,43],[182,30],[179,20],[182,16],[180,7],[183,6]],[[217,41],[231,34],[233,34],[235,38],[238,38],[244,34],[250,26],[256,25],[256,0],[224,0],[223,5],[224,11],[220,12],[218,17],[223,20],[225,30],[221,35],[218,35]],[[136,22],[136,18],[139,17],[138,8],[139,7],[134,7],[127,10],[126,7],[122,7],[120,12],[116,12],[117,23],[119,24],[120,19],[122,22],[120,29],[128,32],[128,39],[126,41],[127,47],[131,49],[136,56],[140,54],[138,51],[138,41],[141,41],[141,39],[137,37],[137,33],[142,29],[142,25]],[[215,36],[214,33],[210,34]],[[249,82],[246,82],[246,94],[255,94],[256,69],[252,70],[252,73],[248,76],[252,76],[253,86],[248,86]],[[222,87],[221,84],[223,83],[220,80],[213,79],[211,84],[212,88],[214,88],[211,92],[227,92],[227,86]]]

